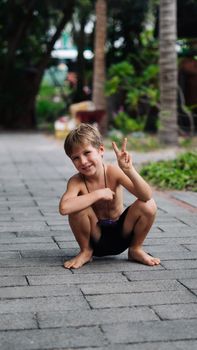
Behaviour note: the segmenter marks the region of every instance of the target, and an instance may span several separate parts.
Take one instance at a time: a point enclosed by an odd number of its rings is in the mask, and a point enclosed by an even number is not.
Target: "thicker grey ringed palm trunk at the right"
[[[160,129],[165,144],[178,143],[176,0],[160,0]]]

